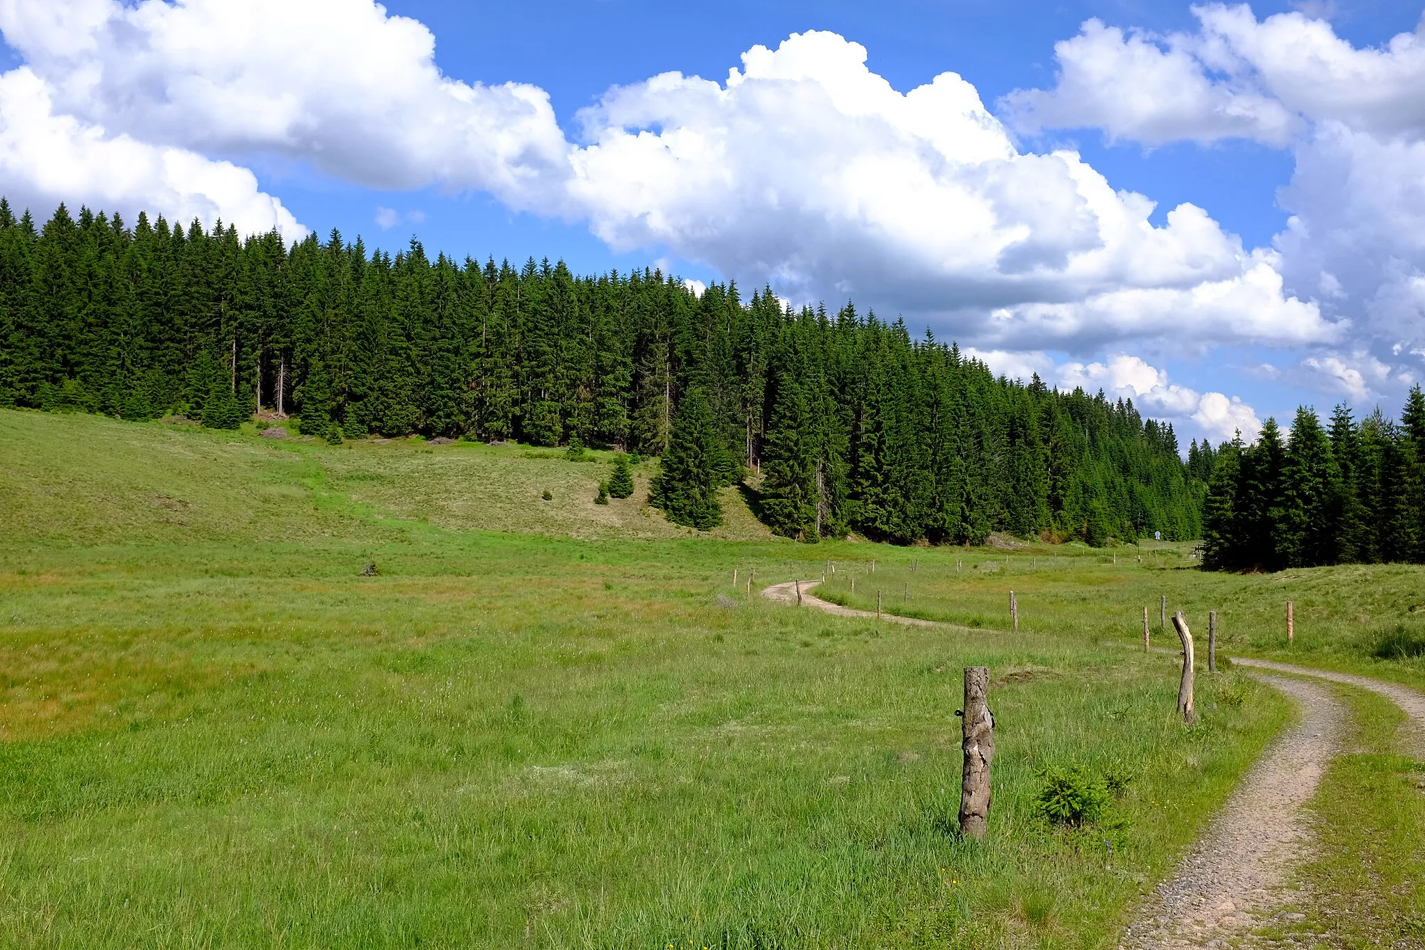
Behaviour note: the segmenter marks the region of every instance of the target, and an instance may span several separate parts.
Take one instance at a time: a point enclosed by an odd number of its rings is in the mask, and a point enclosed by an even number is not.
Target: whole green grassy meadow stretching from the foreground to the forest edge
[[[799,546],[734,490],[691,537],[651,471],[604,508],[551,450],[0,410],[0,946],[1112,947],[1290,716],[1227,671],[1183,728],[1143,605],[1273,654],[1295,597],[1295,654],[1421,678],[1368,649],[1419,568]],[[828,561],[965,630],[755,595]],[[1046,768],[1113,778],[1109,816],[1037,818]]]

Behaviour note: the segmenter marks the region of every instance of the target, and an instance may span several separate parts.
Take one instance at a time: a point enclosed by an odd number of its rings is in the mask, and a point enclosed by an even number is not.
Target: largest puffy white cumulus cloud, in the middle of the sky
[[[1017,151],[959,75],[901,93],[865,60],[802,33],[725,83],[610,90],[580,115],[574,204],[620,251],[667,246],[797,299],[871,298],[998,348],[1341,332],[1201,208],[1154,226],[1149,198],[1077,154]]]

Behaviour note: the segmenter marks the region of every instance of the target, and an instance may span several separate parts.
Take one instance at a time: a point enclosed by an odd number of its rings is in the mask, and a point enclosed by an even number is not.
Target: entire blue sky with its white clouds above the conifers
[[[0,179],[851,296],[1216,440],[1298,402],[1394,410],[1425,377],[1421,13],[17,0]]]

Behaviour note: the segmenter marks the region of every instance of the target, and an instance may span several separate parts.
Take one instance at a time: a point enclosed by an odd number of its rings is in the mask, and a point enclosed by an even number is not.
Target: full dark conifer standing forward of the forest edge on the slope
[[[660,459],[650,501],[674,524],[707,531],[722,523],[717,497],[720,447],[707,396],[694,389],[683,397],[673,420],[668,449]]]

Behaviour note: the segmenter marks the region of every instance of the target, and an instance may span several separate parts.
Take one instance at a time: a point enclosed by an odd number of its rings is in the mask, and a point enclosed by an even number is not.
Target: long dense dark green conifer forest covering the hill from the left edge
[[[656,499],[684,523],[760,473],[754,508],[804,540],[1194,538],[1211,476],[1210,449],[1184,464],[1130,402],[996,379],[849,303],[432,261],[416,241],[289,248],[63,205],[37,231],[0,202],[0,343],[4,404],[219,427],[262,407],[331,440],[577,439],[664,456]]]

